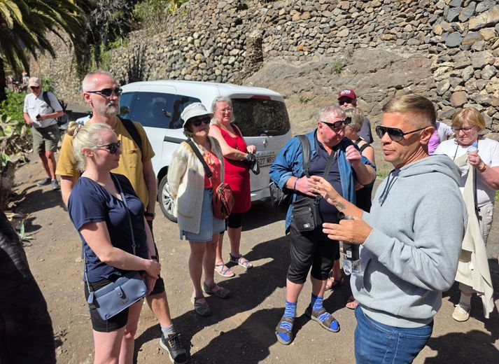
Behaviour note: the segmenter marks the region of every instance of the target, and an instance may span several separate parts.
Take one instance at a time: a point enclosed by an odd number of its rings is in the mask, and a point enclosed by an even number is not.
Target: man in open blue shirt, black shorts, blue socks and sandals
[[[318,113],[317,128],[307,134],[311,146],[310,176],[323,176],[330,162],[326,177],[342,195],[355,203],[356,183],[367,185],[376,174],[370,162],[358,148],[344,137],[345,125],[349,123],[342,109],[327,106]],[[315,183],[304,175],[302,144],[297,138],[290,139],[281,150],[272,167],[270,178],[282,189],[293,190],[293,202],[315,198],[311,191]],[[293,321],[296,304],[307,274],[311,268],[312,297],[307,314],[326,330],[337,332],[339,323],[323,308],[323,296],[328,274],[333,262],[339,259],[338,241],[328,240],[319,225],[314,230],[300,231],[292,214],[293,204],[286,216],[286,232],[290,234],[290,266],[286,280],[286,309],[276,327],[276,337],[281,344],[293,341]],[[337,222],[338,210],[325,200],[320,201],[323,221]]]

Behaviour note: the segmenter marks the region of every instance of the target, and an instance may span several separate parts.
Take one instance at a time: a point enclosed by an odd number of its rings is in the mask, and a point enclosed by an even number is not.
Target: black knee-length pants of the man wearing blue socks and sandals
[[[332,264],[339,259],[339,244],[328,239],[322,232],[322,226],[315,230],[300,232],[294,221],[290,224],[290,258],[287,278],[295,284],[307,281],[310,267],[315,279],[328,279]]]

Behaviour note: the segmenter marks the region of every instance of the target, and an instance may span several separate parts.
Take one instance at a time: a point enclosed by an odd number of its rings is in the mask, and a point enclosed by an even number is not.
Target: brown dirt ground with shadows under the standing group
[[[59,363],[92,363],[92,329],[83,297],[80,239],[62,208],[59,193],[34,183],[43,177],[37,158],[16,174],[20,201],[17,212],[29,214],[24,221],[33,237],[26,246],[31,271],[48,302],[57,339]],[[496,209],[498,210],[498,209]],[[160,211],[157,208],[157,211]],[[497,214],[497,213],[496,213]],[[326,332],[302,313],[309,302],[307,285],[298,302],[297,337],[290,346],[276,342],[274,327],[283,312],[284,283],[288,267],[288,241],[283,237],[283,216],[268,204],[258,204],[246,216],[242,251],[253,261],[244,272],[218,282],[234,297],[222,301],[208,297],[213,315],[200,318],[192,311],[188,276],[188,244],[178,240],[178,228],[162,216],[155,220],[164,280],[170,308],[183,340],[189,343],[191,363],[353,363],[353,311],[344,308],[348,290],[341,287],[327,293],[325,307],[342,325],[337,334]],[[499,216],[496,216],[491,246],[499,246]],[[227,253],[227,242],[225,252]],[[495,301],[499,304],[499,268],[491,262]],[[472,318],[466,323],[452,320],[458,300],[456,285],[444,293],[442,309],[435,318],[433,336],[415,363],[498,363],[499,315],[484,319],[481,303],[472,300]],[[144,306],[136,339],[136,363],[168,363],[167,353],[158,346],[159,325]]]

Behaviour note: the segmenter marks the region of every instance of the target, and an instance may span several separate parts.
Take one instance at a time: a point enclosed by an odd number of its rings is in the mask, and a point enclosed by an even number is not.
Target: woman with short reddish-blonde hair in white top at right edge
[[[492,227],[494,198],[496,190],[499,189],[499,142],[480,137],[479,133],[485,129],[485,120],[482,114],[472,107],[455,113],[451,127],[456,138],[443,141],[435,154],[445,154],[457,161],[468,153],[468,163],[461,167],[463,174],[460,188],[463,192],[468,174],[474,173],[478,220],[486,244]],[[477,143],[478,153],[468,150],[474,143]],[[460,285],[460,289],[461,300],[452,316],[456,321],[466,321],[470,317],[472,289],[463,284]]]

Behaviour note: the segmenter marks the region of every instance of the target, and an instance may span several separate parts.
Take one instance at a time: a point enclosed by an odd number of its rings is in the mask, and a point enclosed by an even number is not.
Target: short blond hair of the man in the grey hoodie
[[[419,94],[405,94],[384,104],[384,113],[408,113],[406,120],[414,127],[435,127],[437,112],[433,102]],[[430,123],[430,125],[428,125]]]

